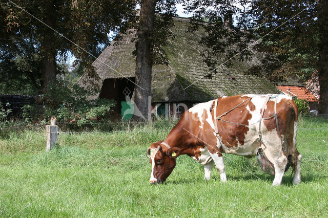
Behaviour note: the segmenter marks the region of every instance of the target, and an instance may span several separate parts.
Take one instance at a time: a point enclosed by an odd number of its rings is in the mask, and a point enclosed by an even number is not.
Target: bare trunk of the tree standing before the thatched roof
[[[145,119],[150,119],[148,113],[148,96],[151,96],[152,81],[152,50],[153,50],[153,26],[155,6],[157,0],[142,0],[139,15],[138,40],[136,43],[136,72],[135,82],[135,106]],[[134,117],[136,119],[136,117]],[[138,119],[138,118],[137,118]]]

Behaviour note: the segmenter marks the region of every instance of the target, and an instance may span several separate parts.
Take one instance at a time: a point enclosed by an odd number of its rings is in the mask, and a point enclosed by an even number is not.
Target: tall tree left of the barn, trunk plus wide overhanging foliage
[[[1,38],[8,42],[2,40],[0,51],[11,53],[14,61],[26,53],[21,48],[28,43],[30,56],[37,55],[41,62],[39,83],[46,92],[55,82],[58,58],[65,59],[71,52],[77,62],[90,67],[91,60],[109,43],[108,33],[129,28],[136,4],[137,1],[1,0],[0,16],[5,20],[1,23]]]

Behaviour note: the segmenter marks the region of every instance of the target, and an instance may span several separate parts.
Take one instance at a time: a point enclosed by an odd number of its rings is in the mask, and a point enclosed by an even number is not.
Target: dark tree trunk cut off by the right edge
[[[328,0],[320,0],[319,2],[319,85],[320,100],[319,114],[328,114]],[[328,118],[328,115],[324,116]]]

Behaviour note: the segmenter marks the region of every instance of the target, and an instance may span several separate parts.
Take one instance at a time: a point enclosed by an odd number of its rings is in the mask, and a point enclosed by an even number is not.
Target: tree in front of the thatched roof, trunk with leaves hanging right
[[[179,0],[141,0],[137,23],[136,71],[134,102],[141,114],[151,119],[149,96],[153,64],[167,64],[163,47],[172,35],[172,16],[176,16],[175,5]],[[135,117],[136,118],[136,117]]]

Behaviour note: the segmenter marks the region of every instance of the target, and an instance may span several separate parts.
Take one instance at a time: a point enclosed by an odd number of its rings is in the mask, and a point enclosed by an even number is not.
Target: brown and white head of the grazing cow
[[[180,149],[171,147],[170,149],[160,145],[162,141],[152,143],[147,149],[147,156],[152,164],[152,172],[149,182],[151,184],[165,182],[176,165],[176,158],[180,154]]]

